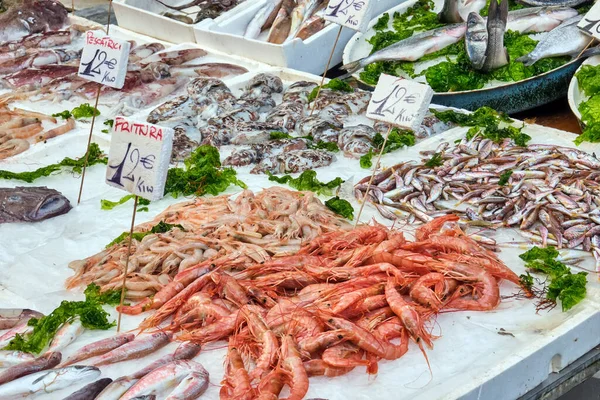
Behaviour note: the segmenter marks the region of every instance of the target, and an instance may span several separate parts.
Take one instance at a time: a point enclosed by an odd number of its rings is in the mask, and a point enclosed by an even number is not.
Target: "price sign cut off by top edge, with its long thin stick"
[[[319,85],[319,89],[317,89],[317,96],[313,99],[313,106],[310,109],[310,115],[313,114],[315,107],[317,106],[317,99],[319,98],[319,94],[321,94],[321,87],[323,87],[325,75],[327,74],[327,71],[329,71],[329,65],[331,64],[333,54],[335,53],[337,42],[340,40],[342,29],[344,27],[348,27],[350,29],[354,29],[355,31],[365,32],[368,28],[369,20],[371,18],[371,1],[375,0],[329,1],[327,9],[325,10],[324,18],[328,21],[338,24],[340,29],[335,37],[335,41],[333,42],[333,48],[331,49],[331,54],[329,54],[329,60],[327,61],[325,71],[323,71],[321,84]]]

